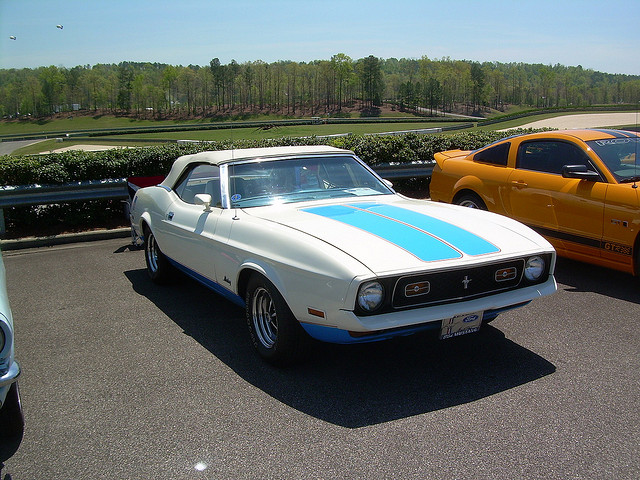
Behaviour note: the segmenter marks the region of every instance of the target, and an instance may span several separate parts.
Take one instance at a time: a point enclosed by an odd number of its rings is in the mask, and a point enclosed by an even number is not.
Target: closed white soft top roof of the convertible
[[[251,160],[257,158],[274,158],[274,157],[291,157],[321,154],[346,153],[353,155],[349,150],[330,147],[328,145],[302,145],[296,147],[266,147],[266,148],[241,148],[238,150],[217,150],[194,153],[193,155],[183,155],[178,157],[167,178],[160,184],[171,188],[178,177],[182,174],[185,167],[190,163],[210,163],[212,165],[220,165],[221,163]]]

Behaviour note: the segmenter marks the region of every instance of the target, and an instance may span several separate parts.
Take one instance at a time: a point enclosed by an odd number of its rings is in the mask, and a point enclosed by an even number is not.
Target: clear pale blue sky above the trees
[[[0,0],[0,68],[431,59],[640,75],[640,1]],[[63,25],[63,29],[56,25]],[[16,40],[9,37],[15,36]]]

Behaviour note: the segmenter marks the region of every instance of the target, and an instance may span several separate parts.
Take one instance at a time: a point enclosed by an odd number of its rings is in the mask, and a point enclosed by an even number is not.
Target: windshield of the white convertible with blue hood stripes
[[[385,183],[348,155],[229,165],[232,207],[392,193]]]

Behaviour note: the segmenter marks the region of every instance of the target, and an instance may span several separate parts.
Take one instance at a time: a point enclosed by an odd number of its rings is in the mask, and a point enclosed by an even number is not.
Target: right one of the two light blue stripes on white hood
[[[492,243],[468,230],[422,213],[385,204],[353,204],[350,206],[353,208],[366,209],[377,215],[394,219],[427,232],[467,255],[486,255],[500,251],[500,249]]]

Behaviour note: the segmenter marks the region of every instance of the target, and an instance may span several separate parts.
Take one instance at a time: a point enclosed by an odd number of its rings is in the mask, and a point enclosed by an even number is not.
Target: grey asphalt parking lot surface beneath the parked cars
[[[640,478],[640,282],[561,261],[483,334],[321,346],[278,370],[243,312],[127,240],[5,252],[24,441],[0,478]]]

